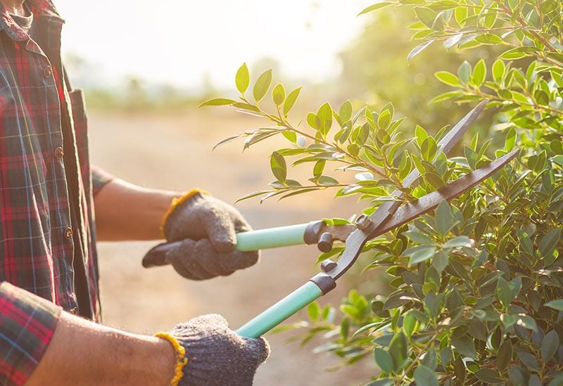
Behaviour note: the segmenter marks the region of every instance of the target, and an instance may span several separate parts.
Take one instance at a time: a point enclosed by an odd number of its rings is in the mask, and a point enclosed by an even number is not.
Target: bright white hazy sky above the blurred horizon
[[[243,62],[270,56],[313,82],[339,73],[337,53],[374,0],[54,0],[66,20],[63,51],[110,78],[230,87]],[[96,71],[98,72],[98,71]]]

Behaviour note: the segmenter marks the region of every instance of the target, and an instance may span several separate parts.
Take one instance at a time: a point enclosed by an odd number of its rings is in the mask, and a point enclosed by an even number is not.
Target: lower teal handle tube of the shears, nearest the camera
[[[321,296],[321,289],[312,281],[308,281],[262,314],[248,321],[236,330],[236,333],[241,337],[260,337]]]

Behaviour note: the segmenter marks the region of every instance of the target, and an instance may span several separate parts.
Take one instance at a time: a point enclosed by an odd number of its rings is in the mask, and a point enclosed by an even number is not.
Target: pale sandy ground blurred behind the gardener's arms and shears
[[[173,115],[94,112],[89,122],[92,162],[135,184],[177,191],[200,187],[232,203],[272,181],[268,155],[279,142],[270,141],[244,153],[241,142],[211,150],[227,136],[260,127],[263,122],[257,118],[220,109],[193,109]],[[303,170],[297,175],[306,181]],[[349,217],[359,212],[353,200],[335,201],[333,194],[325,191],[262,205],[251,199],[236,206],[255,229],[322,217]],[[106,324],[154,333],[194,316],[219,313],[236,328],[307,281],[318,269],[314,265],[315,247],[287,247],[263,251],[259,264],[232,276],[186,281],[170,267],[141,267],[144,252],[155,244],[99,243]],[[322,304],[337,304],[348,290],[346,281],[341,282]],[[255,385],[358,385],[369,381],[377,371],[371,359],[354,368],[327,371],[340,363],[336,356],[312,354],[312,345],[301,348],[296,342],[287,343],[291,336],[267,335],[272,355],[258,370]]]

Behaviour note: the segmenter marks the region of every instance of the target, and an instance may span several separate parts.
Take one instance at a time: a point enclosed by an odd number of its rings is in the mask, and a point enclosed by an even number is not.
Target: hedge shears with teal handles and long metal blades
[[[448,154],[461,139],[469,126],[476,120],[485,107],[487,101],[479,103],[472,111],[458,122],[441,141],[438,142],[438,153]],[[442,188],[424,195],[412,202],[402,202],[403,191],[394,191],[391,197],[396,200],[385,201],[370,216],[361,214],[355,219],[355,224],[330,225],[325,221],[312,221],[308,224],[281,226],[270,229],[260,229],[237,233],[236,249],[241,251],[261,250],[289,245],[317,244],[322,252],[329,252],[334,240],[345,243],[345,248],[338,262],[330,259],[321,264],[321,271],[282,300],[266,309],[244,326],[236,330],[243,337],[260,337],[279,323],[285,321],[299,310],[307,307],[322,295],[326,295],[336,288],[336,281],[350,269],[362,252],[367,241],[377,238],[398,226],[402,226],[412,219],[434,210],[443,200],[453,198],[469,191],[481,181],[498,172],[516,157],[519,150],[513,150],[490,164],[465,174]],[[403,186],[414,187],[419,179],[419,171],[415,168],[403,180]],[[143,259],[143,266],[160,266],[167,264],[165,254],[175,243],[163,243],[153,247]]]

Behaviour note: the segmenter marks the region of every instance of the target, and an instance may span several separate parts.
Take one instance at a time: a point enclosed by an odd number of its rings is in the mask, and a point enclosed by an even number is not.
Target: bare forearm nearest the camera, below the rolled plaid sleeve
[[[167,385],[174,366],[175,351],[166,340],[63,312],[26,385]]]

